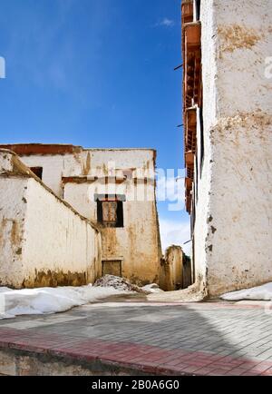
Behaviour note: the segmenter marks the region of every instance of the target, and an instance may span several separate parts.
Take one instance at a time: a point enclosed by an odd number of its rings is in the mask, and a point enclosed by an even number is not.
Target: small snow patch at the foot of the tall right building
[[[221,295],[222,300],[272,300],[272,282],[251,289],[228,292]]]

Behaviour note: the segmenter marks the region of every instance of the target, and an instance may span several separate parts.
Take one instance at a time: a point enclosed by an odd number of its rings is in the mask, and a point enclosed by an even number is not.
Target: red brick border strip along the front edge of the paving
[[[188,350],[165,350],[129,342],[92,340],[0,328],[0,350],[17,350],[83,362],[100,361],[116,368],[155,375],[272,376],[272,361],[233,359]]]

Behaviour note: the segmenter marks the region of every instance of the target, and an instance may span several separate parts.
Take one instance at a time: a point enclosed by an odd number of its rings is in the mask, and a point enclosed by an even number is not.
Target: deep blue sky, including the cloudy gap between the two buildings
[[[3,0],[1,143],[149,147],[183,168],[180,0]],[[186,212],[159,202],[164,244]]]

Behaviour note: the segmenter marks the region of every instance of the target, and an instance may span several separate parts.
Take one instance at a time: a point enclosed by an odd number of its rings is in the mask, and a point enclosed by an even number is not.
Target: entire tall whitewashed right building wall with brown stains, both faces
[[[205,161],[195,261],[209,295],[272,281],[269,0],[202,0]]]

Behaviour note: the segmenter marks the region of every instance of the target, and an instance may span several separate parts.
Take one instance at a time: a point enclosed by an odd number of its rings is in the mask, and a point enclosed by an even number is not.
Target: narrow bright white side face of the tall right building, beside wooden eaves
[[[194,265],[195,279],[203,291],[207,291],[208,234],[209,234],[209,198],[211,188],[212,146],[209,132],[216,123],[216,47],[213,15],[213,0],[201,1],[201,45],[202,45],[202,81],[203,81],[203,128],[205,154],[202,171],[199,171],[198,200],[194,228]],[[197,130],[198,152],[200,153],[199,122]],[[200,160],[199,160],[200,162]],[[200,170],[200,169],[199,169]],[[196,171],[195,171],[196,174]]]

